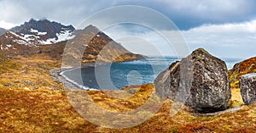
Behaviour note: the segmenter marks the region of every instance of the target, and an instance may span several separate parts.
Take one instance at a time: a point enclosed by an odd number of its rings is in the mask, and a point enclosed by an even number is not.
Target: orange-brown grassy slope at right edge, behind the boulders
[[[231,87],[239,87],[239,78],[241,75],[256,72],[256,57],[248,58],[234,65],[229,70]]]

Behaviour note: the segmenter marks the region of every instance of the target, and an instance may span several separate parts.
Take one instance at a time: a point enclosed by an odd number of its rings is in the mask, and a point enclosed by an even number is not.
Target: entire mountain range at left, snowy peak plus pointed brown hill
[[[75,30],[72,25],[61,25],[48,19],[30,19],[20,26],[3,30],[0,36],[0,51],[12,55],[45,53],[52,58],[61,58],[67,41],[72,42],[77,51],[84,50],[81,47],[86,47],[83,63],[96,60],[120,62],[144,58],[129,52],[93,25],[88,25],[84,30]],[[108,50],[102,52],[106,47]],[[76,53],[71,55],[70,58],[77,57]]]

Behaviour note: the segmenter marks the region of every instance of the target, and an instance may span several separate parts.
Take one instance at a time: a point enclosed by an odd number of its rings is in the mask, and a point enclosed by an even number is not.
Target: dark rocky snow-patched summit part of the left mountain
[[[19,37],[22,42],[31,45],[53,44],[74,37],[72,25],[61,25],[48,19],[30,19],[23,25],[10,29],[10,33]]]

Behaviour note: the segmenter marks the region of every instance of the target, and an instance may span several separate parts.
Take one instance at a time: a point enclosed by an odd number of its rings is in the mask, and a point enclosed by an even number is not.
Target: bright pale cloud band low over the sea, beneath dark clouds
[[[134,32],[134,29],[137,32]],[[116,25],[104,31],[135,53],[154,55],[155,51],[159,51],[163,55],[176,55],[173,47],[170,47],[163,36],[153,30],[138,28],[137,25],[129,28],[125,25]],[[170,34],[174,32],[164,31]],[[256,56],[256,19],[243,23],[201,25],[190,30],[181,30],[181,33],[191,51],[203,47],[220,58],[245,59]]]

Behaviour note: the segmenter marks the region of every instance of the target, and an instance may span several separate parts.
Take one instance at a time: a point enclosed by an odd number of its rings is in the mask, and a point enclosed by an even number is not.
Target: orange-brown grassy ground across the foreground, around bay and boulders
[[[253,132],[256,128],[255,103],[244,105],[236,112],[212,117],[195,116],[191,108],[183,106],[176,115],[170,116],[171,100],[166,100],[158,113],[141,125],[127,129],[102,128],[76,112],[62,83],[50,75],[53,69],[60,69],[60,59],[50,58],[44,53],[0,57],[1,132]],[[231,86],[230,107],[239,107],[243,104],[240,90],[233,84]],[[102,91],[88,93],[102,108],[127,111],[139,107],[154,93],[154,86],[150,84],[128,89],[134,88],[140,91],[125,101],[108,97]]]

